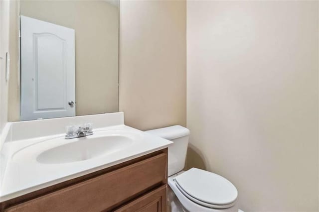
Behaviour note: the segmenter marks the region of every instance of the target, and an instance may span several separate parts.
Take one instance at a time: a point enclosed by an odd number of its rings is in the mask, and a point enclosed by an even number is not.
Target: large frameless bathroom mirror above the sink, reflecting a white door
[[[20,0],[19,21],[20,108],[9,112],[34,120],[119,110],[118,0]]]

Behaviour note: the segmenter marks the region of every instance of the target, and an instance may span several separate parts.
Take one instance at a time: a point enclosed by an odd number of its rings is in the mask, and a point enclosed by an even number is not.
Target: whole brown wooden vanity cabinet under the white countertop
[[[165,212],[167,148],[0,203],[1,212]]]

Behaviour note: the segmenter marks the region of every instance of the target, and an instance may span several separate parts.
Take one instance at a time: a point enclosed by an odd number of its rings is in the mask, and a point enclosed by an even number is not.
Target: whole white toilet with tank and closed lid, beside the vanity
[[[236,187],[227,179],[185,165],[189,130],[175,125],[147,132],[174,142],[168,147],[168,205],[172,212],[238,212]]]

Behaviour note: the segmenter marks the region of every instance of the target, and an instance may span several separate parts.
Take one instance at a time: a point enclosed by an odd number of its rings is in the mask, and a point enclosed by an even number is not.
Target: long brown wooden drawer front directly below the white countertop
[[[13,206],[5,212],[96,212],[129,200],[166,179],[167,154],[86,180]]]

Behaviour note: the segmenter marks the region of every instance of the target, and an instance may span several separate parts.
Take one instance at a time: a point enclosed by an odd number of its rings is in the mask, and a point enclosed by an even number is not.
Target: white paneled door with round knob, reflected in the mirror
[[[74,29],[21,16],[21,120],[75,115]]]

